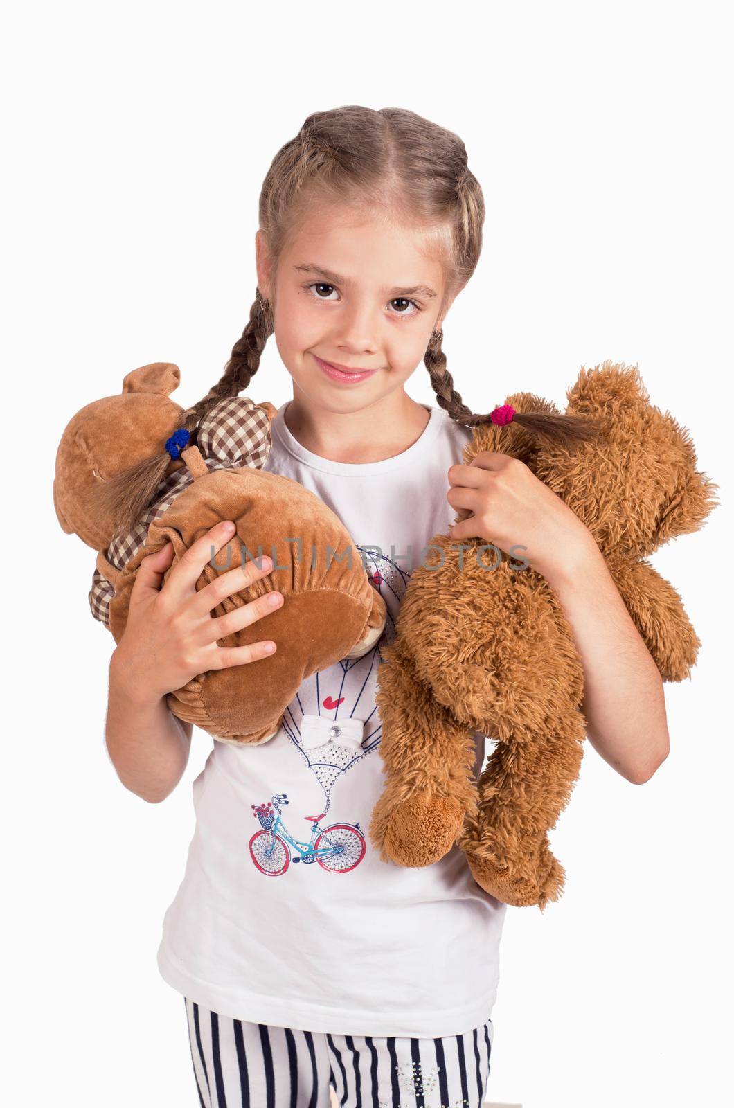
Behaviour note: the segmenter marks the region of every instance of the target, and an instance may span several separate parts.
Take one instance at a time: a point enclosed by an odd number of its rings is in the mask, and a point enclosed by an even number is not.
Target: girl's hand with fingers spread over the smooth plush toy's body
[[[213,618],[212,608],[226,596],[241,592],[273,570],[268,557],[258,570],[254,561],[221,573],[196,592],[204,566],[235,532],[230,521],[217,523],[202,535],[174,565],[173,545],[166,543],[140,563],[130,594],[124,634],[114,652],[116,665],[136,699],[160,699],[208,669],[223,669],[257,661],[276,649],[265,640],[249,646],[222,647],[216,640],[248,627],[283,604],[283,594],[269,592],[256,601]]]

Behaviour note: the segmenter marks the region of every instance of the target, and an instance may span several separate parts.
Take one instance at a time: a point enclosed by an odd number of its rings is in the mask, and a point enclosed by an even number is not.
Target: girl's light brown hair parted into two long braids
[[[485,199],[459,136],[401,107],[374,111],[349,104],[314,112],[295,138],[277,152],[261,189],[259,227],[273,271],[306,213],[332,202],[388,212],[426,229],[427,247],[437,253],[446,278],[441,319],[447,298],[473,274],[482,245]],[[249,319],[222,377],[182,416],[190,443],[200,420],[215,403],[247,388],[272,334],[272,306],[256,288]],[[439,406],[457,423],[489,423],[490,416],[475,414],[453,388],[442,338],[442,331],[434,331],[424,357]],[[588,421],[562,413],[517,412],[513,422],[560,443],[572,444],[593,434]],[[170,462],[164,451],[98,486],[98,504],[113,513],[120,530],[139,520]]]

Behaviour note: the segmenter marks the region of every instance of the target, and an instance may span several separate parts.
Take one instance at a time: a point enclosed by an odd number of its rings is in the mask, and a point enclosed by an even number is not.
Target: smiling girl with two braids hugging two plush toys
[[[656,667],[589,532],[519,461],[461,463],[471,429],[489,417],[453,389],[441,326],[477,265],[483,217],[457,135],[399,109],[308,116],[262,188],[249,320],[222,379],[184,413],[193,431],[223,397],[264,399],[251,382],[274,334],[293,399],[273,420],[265,469],[337,513],[388,608],[366,656],[306,680],[268,741],[215,741],[193,783],[196,827],[157,961],[185,1001],[206,1108],[327,1108],[329,1086],[353,1108],[483,1101],[507,905],[476,884],[456,847],[409,869],[381,862],[366,839],[383,790],[380,645],[421,552],[460,510],[473,515],[455,526],[457,541],[522,543],[554,587],[602,756],[643,781],[667,752]],[[438,407],[405,391],[421,361]],[[501,398],[510,383],[521,382],[492,379],[488,393]],[[222,589],[233,595],[272,571],[263,557],[196,592],[232,533],[227,521],[213,527],[165,584],[173,547],[143,561],[112,656],[108,749],[123,783],[150,801],[175,788],[190,751],[191,725],[170,714],[165,694],[278,647],[217,646],[284,603],[271,592],[211,616]],[[485,736],[475,741],[478,777]],[[278,859],[258,850],[274,819],[289,845]],[[324,823],[358,845],[339,869],[315,853]]]

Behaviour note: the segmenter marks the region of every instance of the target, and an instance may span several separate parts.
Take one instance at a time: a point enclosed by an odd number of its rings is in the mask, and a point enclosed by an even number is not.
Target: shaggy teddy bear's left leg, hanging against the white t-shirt
[[[380,666],[383,794],[369,838],[383,861],[431,865],[453,847],[467,812],[476,812],[473,736],[439,705],[407,665]],[[407,681],[398,691],[397,685]]]

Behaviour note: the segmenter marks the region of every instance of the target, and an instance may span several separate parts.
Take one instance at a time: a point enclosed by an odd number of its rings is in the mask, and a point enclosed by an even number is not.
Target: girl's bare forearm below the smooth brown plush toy
[[[110,661],[105,722],[108,753],[131,792],[157,803],[181,780],[188,761],[191,725],[169,709],[165,697],[150,698],[115,650]]]

